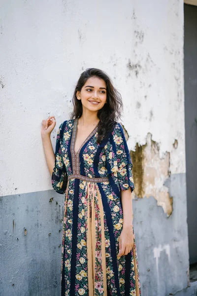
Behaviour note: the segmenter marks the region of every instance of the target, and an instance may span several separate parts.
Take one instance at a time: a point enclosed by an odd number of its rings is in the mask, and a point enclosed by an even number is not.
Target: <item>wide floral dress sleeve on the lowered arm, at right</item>
[[[117,123],[110,135],[108,142],[106,159],[107,171],[113,183],[119,190],[134,189],[132,178],[132,161],[125,139],[125,134],[120,123]]]

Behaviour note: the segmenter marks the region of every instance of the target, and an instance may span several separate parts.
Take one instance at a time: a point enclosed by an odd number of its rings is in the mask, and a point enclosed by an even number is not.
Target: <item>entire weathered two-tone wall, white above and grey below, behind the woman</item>
[[[142,295],[186,288],[183,2],[1,0],[1,11],[2,295],[59,293],[63,197],[50,191],[40,127],[51,114],[57,126],[68,118],[74,84],[88,67],[106,71],[123,96],[137,167]]]

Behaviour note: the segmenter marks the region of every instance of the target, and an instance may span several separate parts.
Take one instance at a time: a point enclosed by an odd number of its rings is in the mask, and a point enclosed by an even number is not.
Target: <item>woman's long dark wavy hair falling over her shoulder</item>
[[[73,111],[71,113],[71,118],[80,118],[82,115],[82,103],[81,100],[77,100],[76,93],[81,91],[82,87],[86,83],[87,79],[90,77],[99,77],[103,79],[106,83],[107,90],[107,101],[106,104],[98,111],[99,126],[98,126],[98,138],[97,141],[100,142],[101,139],[107,137],[108,133],[113,130],[114,125],[121,117],[123,110],[122,97],[120,93],[115,89],[112,84],[110,77],[104,73],[102,70],[96,68],[89,68],[84,71],[77,82],[74,90],[72,102]]]

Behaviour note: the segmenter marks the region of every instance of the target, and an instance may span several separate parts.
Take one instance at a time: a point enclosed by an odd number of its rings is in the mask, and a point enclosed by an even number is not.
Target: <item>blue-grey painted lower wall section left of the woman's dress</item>
[[[54,190],[0,197],[0,296],[60,295],[63,205]]]

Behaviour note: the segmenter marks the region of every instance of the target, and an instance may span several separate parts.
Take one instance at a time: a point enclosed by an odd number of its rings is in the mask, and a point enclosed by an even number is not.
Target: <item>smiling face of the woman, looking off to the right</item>
[[[81,100],[83,111],[98,112],[107,101],[106,83],[99,77],[90,77],[76,96]]]

